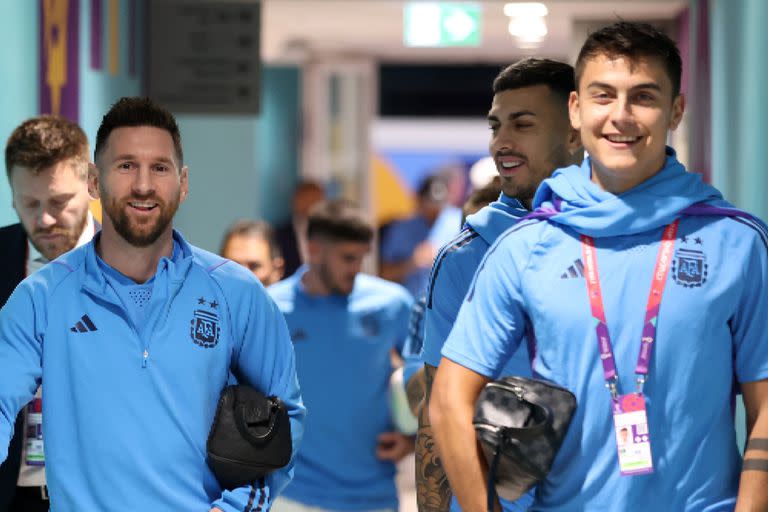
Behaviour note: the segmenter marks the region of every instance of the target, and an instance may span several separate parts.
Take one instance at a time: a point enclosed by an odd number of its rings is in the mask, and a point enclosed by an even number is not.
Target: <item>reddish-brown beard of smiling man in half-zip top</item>
[[[104,189],[101,189],[104,215],[112,221],[117,234],[134,247],[148,247],[155,243],[160,238],[160,235],[165,233],[168,226],[170,226],[173,216],[176,215],[176,210],[179,209],[179,204],[181,203],[181,191],[170,203],[166,203],[154,195],[116,199],[110,197],[105,192]],[[132,218],[126,209],[130,208],[128,202],[134,200],[152,200],[156,202],[157,206],[155,208],[160,210],[160,215],[153,219],[137,220]]]

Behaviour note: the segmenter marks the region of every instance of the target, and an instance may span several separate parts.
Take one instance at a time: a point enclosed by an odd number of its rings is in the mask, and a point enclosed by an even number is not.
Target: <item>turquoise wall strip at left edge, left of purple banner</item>
[[[16,126],[37,113],[37,2],[4,0],[0,2],[0,143],[5,155],[5,142]],[[11,189],[5,177],[5,161],[0,164],[0,226],[17,222],[11,207]]]

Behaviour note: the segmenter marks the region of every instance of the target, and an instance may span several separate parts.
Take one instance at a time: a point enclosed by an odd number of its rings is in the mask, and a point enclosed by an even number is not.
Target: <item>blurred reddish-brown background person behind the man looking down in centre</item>
[[[296,186],[291,201],[291,220],[275,228],[275,239],[280,247],[285,269],[290,277],[307,258],[307,215],[314,205],[325,199],[325,189],[312,181]]]

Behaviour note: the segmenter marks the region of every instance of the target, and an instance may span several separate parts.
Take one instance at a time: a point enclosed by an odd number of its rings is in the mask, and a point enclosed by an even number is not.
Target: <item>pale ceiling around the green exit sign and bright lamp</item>
[[[483,7],[477,48],[406,48],[402,0],[262,0],[262,57],[267,62],[321,56],[377,60],[509,62],[535,53],[573,59],[588,27],[618,18],[672,21],[686,0],[545,1],[549,34],[536,50],[521,50],[507,31],[506,1],[474,0]]]

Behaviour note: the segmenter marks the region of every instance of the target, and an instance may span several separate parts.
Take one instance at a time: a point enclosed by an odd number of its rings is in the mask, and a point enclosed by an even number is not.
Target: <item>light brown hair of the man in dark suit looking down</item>
[[[32,172],[74,158],[78,174],[88,176],[88,137],[77,123],[60,116],[37,116],[21,123],[5,145],[5,172],[8,181],[15,166]]]

